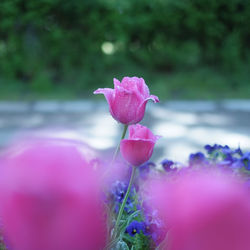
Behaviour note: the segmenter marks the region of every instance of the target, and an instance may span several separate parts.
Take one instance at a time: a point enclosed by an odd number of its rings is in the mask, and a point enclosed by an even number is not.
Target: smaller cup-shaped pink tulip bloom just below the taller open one
[[[129,126],[129,138],[121,140],[121,154],[132,166],[140,166],[152,156],[156,141],[160,136],[154,135],[147,127],[140,124]]]

